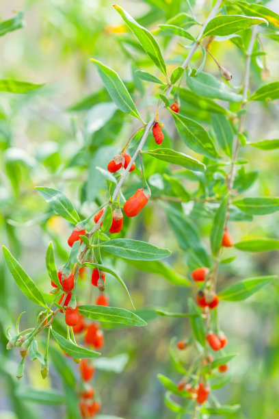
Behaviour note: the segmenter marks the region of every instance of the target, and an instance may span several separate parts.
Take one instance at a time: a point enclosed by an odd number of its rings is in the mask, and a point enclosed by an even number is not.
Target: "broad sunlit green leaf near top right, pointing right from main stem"
[[[215,16],[211,19],[204,29],[204,36],[228,36],[236,34],[243,29],[248,29],[252,25],[267,23],[264,18],[242,16],[240,14]]]

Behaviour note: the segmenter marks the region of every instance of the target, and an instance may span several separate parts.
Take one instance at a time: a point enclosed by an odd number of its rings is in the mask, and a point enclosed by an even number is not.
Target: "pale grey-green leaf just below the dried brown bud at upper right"
[[[198,77],[187,77],[187,85],[196,94],[222,101],[241,102],[242,95],[230,92],[226,84],[208,73],[199,73]]]

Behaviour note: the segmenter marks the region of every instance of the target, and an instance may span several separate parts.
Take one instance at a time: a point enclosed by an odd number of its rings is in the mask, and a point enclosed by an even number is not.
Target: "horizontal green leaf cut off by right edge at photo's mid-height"
[[[279,198],[243,198],[233,201],[239,210],[251,215],[266,215],[279,211]]]

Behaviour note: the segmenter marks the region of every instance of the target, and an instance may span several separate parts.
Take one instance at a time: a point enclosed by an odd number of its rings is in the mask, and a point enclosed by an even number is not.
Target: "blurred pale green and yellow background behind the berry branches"
[[[178,12],[189,12],[187,1],[123,1],[118,3],[150,30],[157,31],[159,23]],[[204,20],[211,1],[191,1],[200,21]],[[266,3],[266,2],[264,2]],[[276,1],[268,7],[279,12]],[[154,112],[158,89],[142,84],[135,75],[140,68],[157,74],[156,69],[140,50],[136,39],[120,16],[106,0],[2,0],[0,16],[12,17],[16,10],[25,12],[26,25],[0,38],[0,79],[10,78],[44,83],[45,86],[27,95],[0,92],[0,228],[1,244],[5,244],[21,262],[29,275],[46,293],[49,278],[44,268],[44,255],[50,240],[55,244],[58,264],[66,259],[66,238],[70,225],[51,214],[34,186],[50,186],[63,190],[75,203],[80,214],[87,216],[105,199],[102,175],[96,165],[104,167],[111,156],[127,141],[138,127],[129,116],[115,110],[103,89],[90,57],[101,60],[116,70],[127,81],[133,98],[142,114]],[[195,30],[194,30],[195,31]],[[178,42],[181,38],[160,36],[157,39],[168,62],[168,71],[181,64],[187,50]],[[267,53],[269,81],[278,77],[279,57],[276,40],[261,37]],[[218,61],[233,73],[233,86],[238,88],[243,77],[243,54],[233,42],[215,42],[212,49]],[[200,62],[201,55],[195,56]],[[251,90],[261,81],[263,56],[253,58]],[[218,74],[210,57],[204,71]],[[186,104],[185,104],[186,108]],[[279,138],[278,103],[248,105],[246,128],[248,140]],[[196,111],[187,107],[187,114]],[[175,149],[185,151],[168,112],[162,112],[167,141]],[[207,112],[200,112],[200,121],[209,123]],[[241,157],[248,160],[247,168],[258,173],[249,194],[278,196],[279,151],[263,152],[245,147]],[[161,167],[146,159],[150,185],[160,189]],[[158,169],[158,172],[157,172]],[[187,183],[188,182],[188,183]],[[188,180],[185,185],[192,188]],[[129,181],[127,182],[129,183]],[[135,190],[137,177],[126,186]],[[187,211],[187,207],[185,207]],[[193,219],[193,223],[196,220]],[[176,277],[189,277],[185,254],[178,248],[174,234],[168,227],[165,214],[157,200],[153,200],[136,220],[125,223],[125,236],[138,238],[172,250],[169,263]],[[208,242],[209,220],[199,220],[199,227]],[[272,214],[255,217],[252,222],[233,223],[235,241],[252,237],[279,238],[279,218]],[[226,251],[237,258],[220,270],[220,288],[227,281],[243,277],[276,274],[278,252],[250,255],[237,250]],[[161,275],[142,272],[122,261],[114,261],[131,292],[137,309],[165,307],[173,312],[187,309],[188,288],[179,287]],[[86,294],[86,281],[81,292]],[[111,305],[131,309],[127,295],[118,283],[107,283]],[[230,366],[230,384],[216,392],[222,403],[241,403],[242,409],[230,418],[276,419],[279,417],[279,312],[278,283],[258,292],[243,303],[222,303],[222,329],[229,338],[231,353],[239,353]],[[10,273],[0,262],[0,418],[61,418],[64,406],[25,403],[20,391],[25,385],[35,388],[57,388],[62,381],[55,366],[51,366],[46,381],[40,377],[38,361],[28,362],[25,377],[17,383],[16,351],[5,351],[5,329],[16,323],[18,314],[26,311],[21,327],[36,322],[38,307],[30,303],[16,288]],[[147,314],[146,314],[147,315]],[[161,372],[174,381],[179,374],[170,361],[169,345],[172,337],[183,338],[189,333],[187,320],[166,317],[153,318],[145,328],[118,328],[105,331],[103,355],[114,357],[118,373],[98,370],[94,386],[101,396],[102,414],[114,414],[126,419],[172,418],[163,403],[163,389],[157,379]],[[40,342],[39,342],[40,345]],[[68,362],[69,368],[77,366]],[[32,416],[33,415],[33,416]]]

